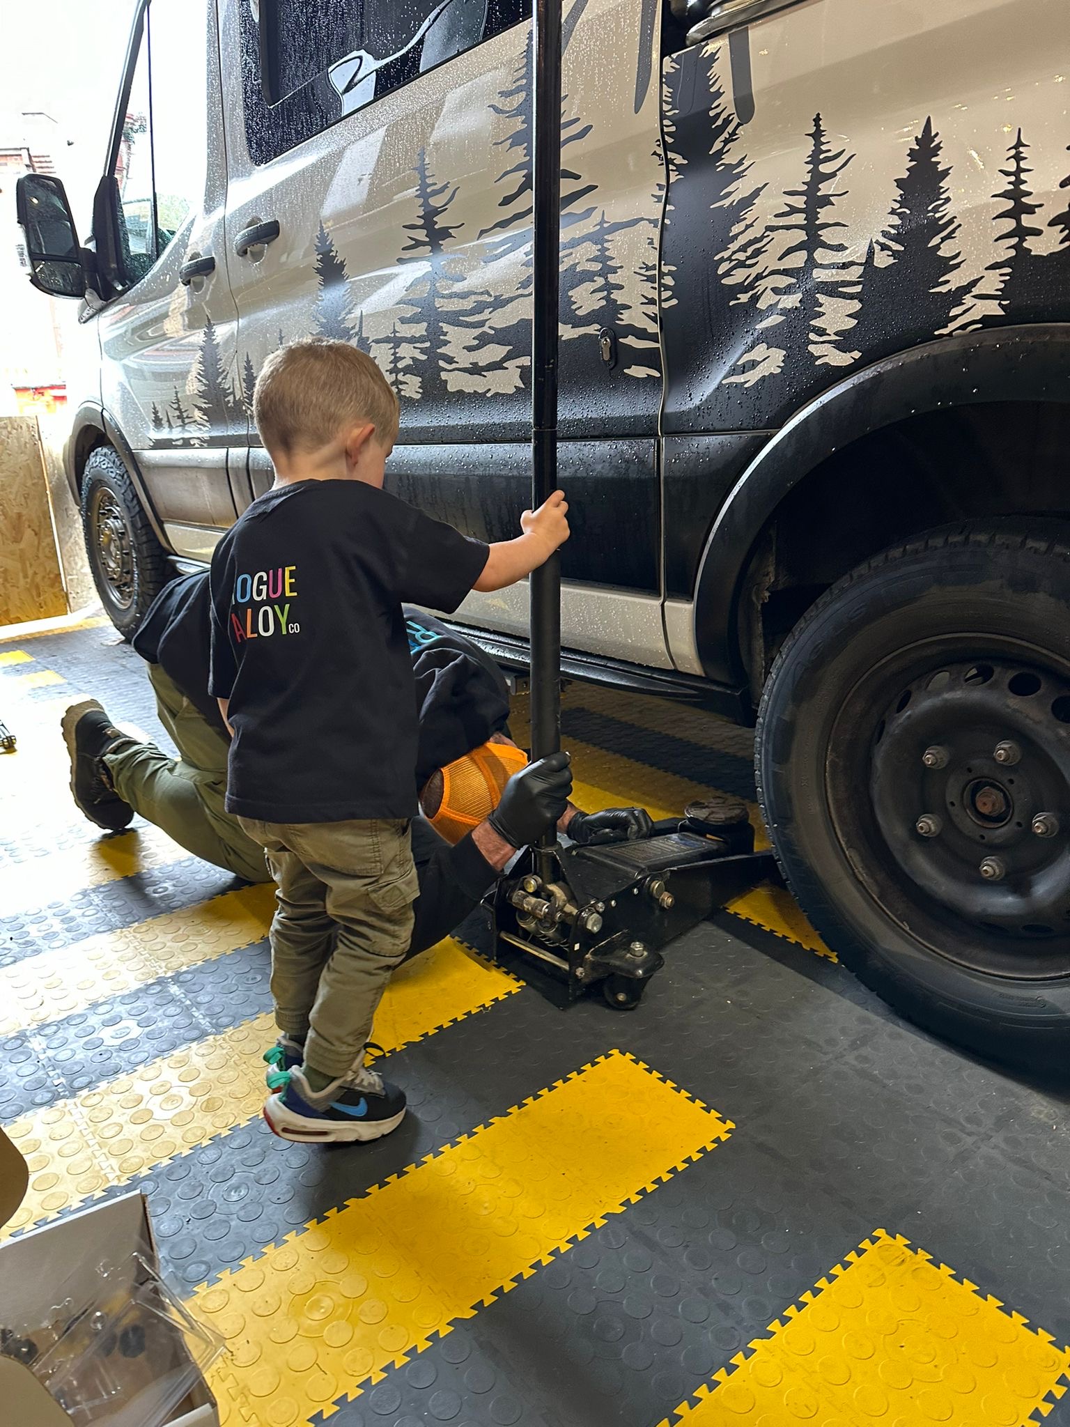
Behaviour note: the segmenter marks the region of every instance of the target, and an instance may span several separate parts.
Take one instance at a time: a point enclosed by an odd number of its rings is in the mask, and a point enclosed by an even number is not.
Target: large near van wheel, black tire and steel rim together
[[[936,531],[805,615],[758,719],[788,883],[905,1016],[982,1055],[1070,1052],[1070,529]]]

